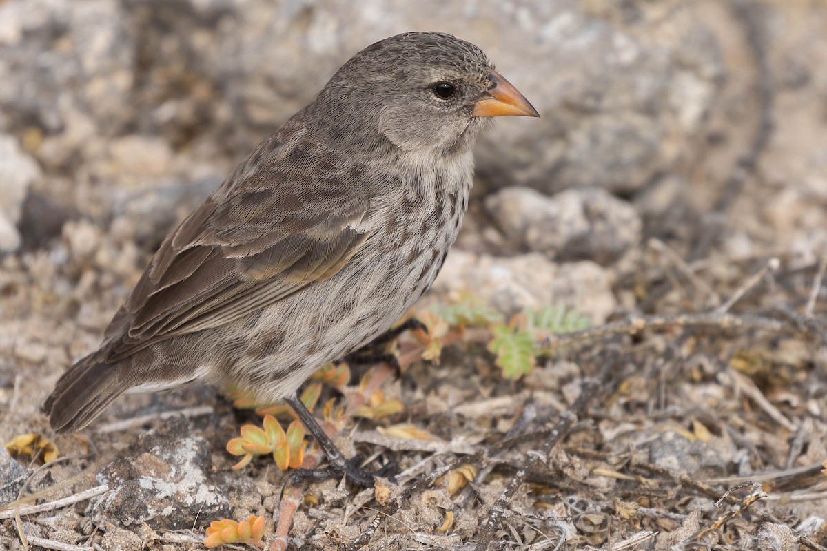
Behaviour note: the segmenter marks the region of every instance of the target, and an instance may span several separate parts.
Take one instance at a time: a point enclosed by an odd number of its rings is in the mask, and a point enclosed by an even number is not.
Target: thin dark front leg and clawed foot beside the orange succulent
[[[327,436],[322,427],[318,424],[316,418],[313,417],[313,414],[311,414],[310,411],[308,411],[307,406],[304,406],[304,402],[299,400],[297,395],[284,398],[284,401],[286,401],[289,406],[293,408],[293,411],[296,412],[296,415],[299,416],[299,420],[301,420],[302,424],[304,424],[304,428],[309,430],[310,434],[313,435],[313,438],[316,439],[316,443],[319,448],[322,449],[327,457],[327,462],[330,463],[327,468],[296,469],[290,475],[291,478],[298,480],[321,481],[326,480],[327,478],[344,475],[357,486],[367,488],[373,487],[374,476],[387,476],[396,468],[395,463],[388,463],[385,467],[375,473],[366,472],[364,469],[359,467],[359,463],[361,463],[362,459],[361,455],[356,455],[353,458],[346,459],[344,454],[342,454],[342,452],[337,448],[332,439]]]

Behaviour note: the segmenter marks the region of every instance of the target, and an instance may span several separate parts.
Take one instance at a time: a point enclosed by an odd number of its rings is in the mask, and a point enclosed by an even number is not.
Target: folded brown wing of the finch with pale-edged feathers
[[[112,319],[107,361],[224,325],[339,272],[370,238],[369,197],[262,171],[169,235]],[[217,196],[218,197],[218,196]]]

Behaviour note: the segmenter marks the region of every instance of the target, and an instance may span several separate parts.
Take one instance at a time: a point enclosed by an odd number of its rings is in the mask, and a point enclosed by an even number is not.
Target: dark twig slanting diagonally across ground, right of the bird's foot
[[[612,356],[614,355],[615,354],[612,354]],[[495,530],[497,530],[497,527],[500,525],[500,520],[503,518],[506,507],[509,501],[511,501],[511,498],[514,497],[514,493],[523,485],[523,482],[525,482],[529,474],[540,465],[548,462],[548,455],[551,453],[552,448],[568,433],[586,409],[586,406],[597,396],[600,390],[600,382],[613,379],[610,377],[610,374],[616,365],[617,361],[614,357],[606,359],[603,363],[603,368],[600,369],[600,373],[596,378],[588,378],[583,382],[580,396],[577,397],[568,410],[561,414],[560,420],[557,421],[557,425],[554,426],[546,439],[544,439],[543,446],[540,447],[540,450],[528,452],[528,458],[526,462],[523,463],[523,467],[517,471],[503,492],[500,493],[497,501],[490,507],[488,519],[485,520],[478,534],[479,540],[476,544],[476,551],[485,551],[485,549],[488,549],[491,539],[494,537]]]

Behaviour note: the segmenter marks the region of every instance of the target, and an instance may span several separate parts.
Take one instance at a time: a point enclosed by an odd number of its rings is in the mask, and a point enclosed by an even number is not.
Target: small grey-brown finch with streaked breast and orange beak
[[[52,428],[84,428],[123,392],[233,382],[286,399],[326,439],[296,389],[430,287],[466,211],[472,145],[502,115],[538,113],[464,40],[412,32],[354,55],[167,236],[46,400]]]

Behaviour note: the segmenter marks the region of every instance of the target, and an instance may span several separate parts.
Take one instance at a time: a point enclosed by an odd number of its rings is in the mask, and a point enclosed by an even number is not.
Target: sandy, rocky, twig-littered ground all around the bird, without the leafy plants
[[[479,145],[418,311],[471,290],[586,335],[516,379],[490,326],[446,325],[438,363],[405,336],[401,411],[337,435],[398,463],[375,491],[231,470],[261,417],[212,387],[52,434],[41,402],[176,221],[349,55],[434,29],[543,118]],[[264,515],[276,549],[825,549],[825,29],[816,0],[0,0],[0,440],[58,451],[0,447],[0,548],[202,549]]]

